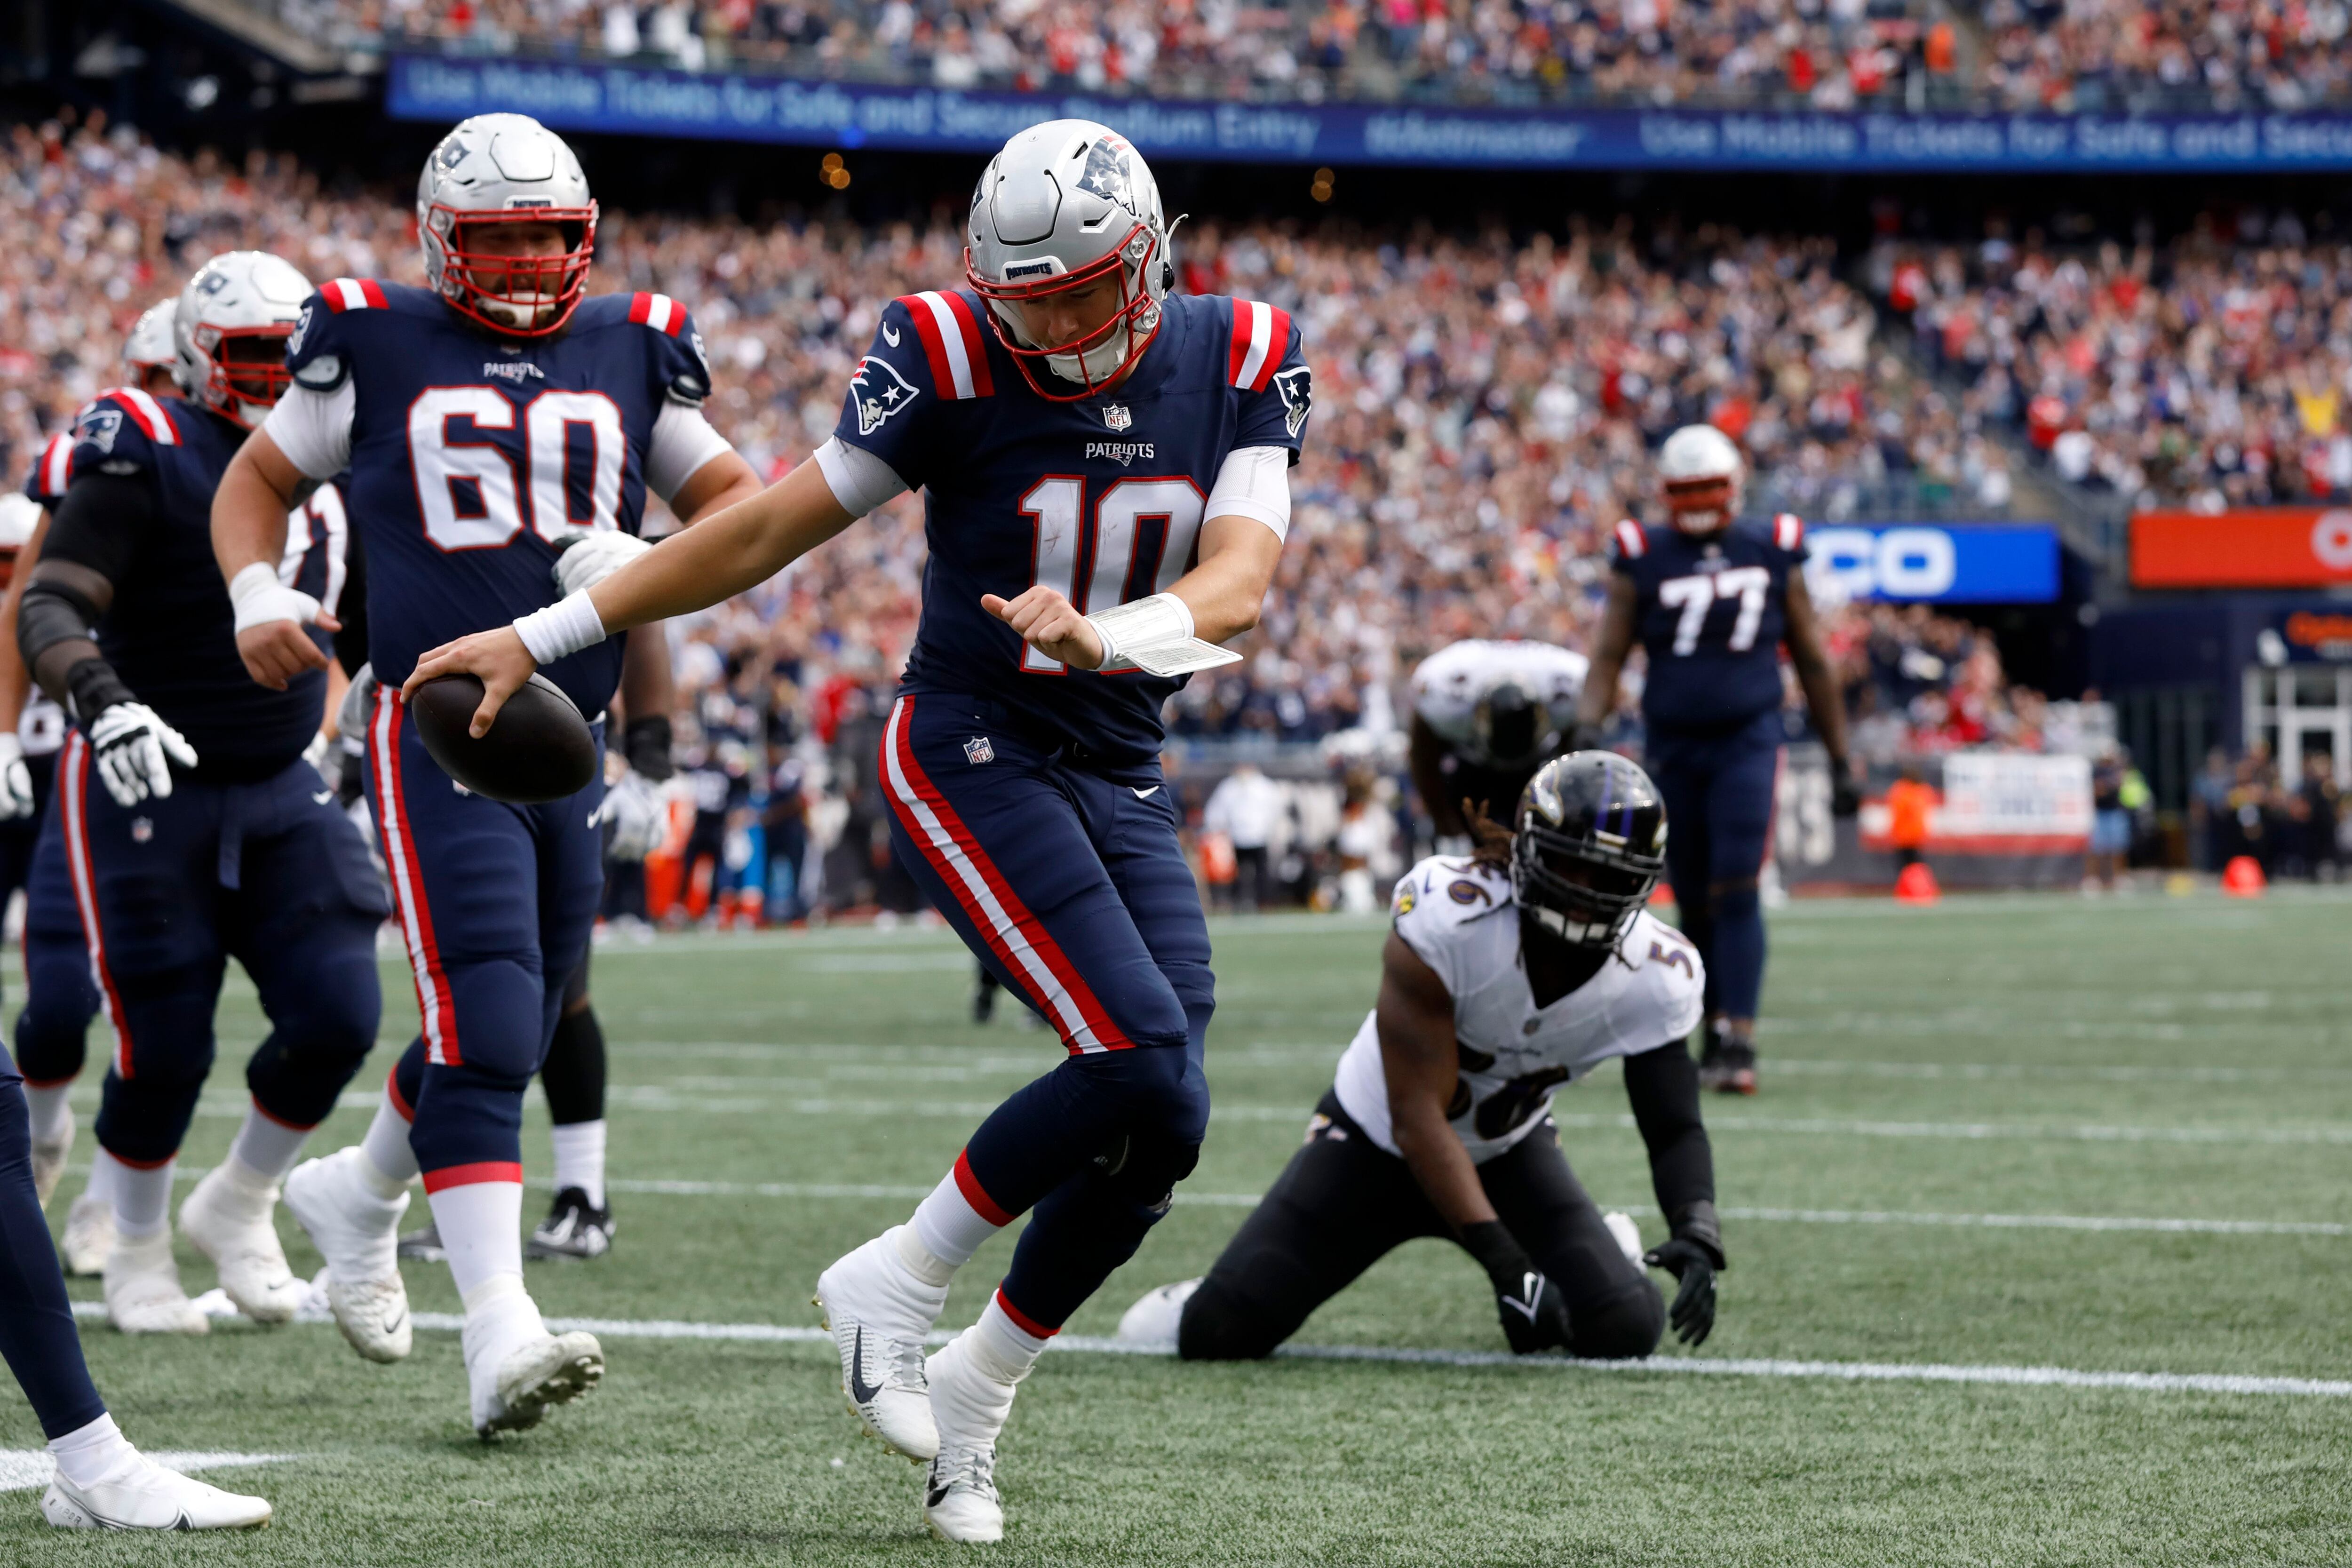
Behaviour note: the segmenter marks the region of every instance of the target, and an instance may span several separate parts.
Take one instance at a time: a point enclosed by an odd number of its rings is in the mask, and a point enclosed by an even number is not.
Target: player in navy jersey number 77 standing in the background
[[[1578,736],[1592,745],[1616,708],[1635,642],[1649,656],[1642,684],[1646,764],[1675,835],[1668,879],[1682,931],[1708,964],[1708,1044],[1698,1081],[1757,1091],[1757,1001],[1764,992],[1764,903],[1757,879],[1771,846],[1780,778],[1780,646],[1830,752],[1837,816],[1860,790],[1846,757],[1846,705],[1820,646],[1804,590],[1804,524],[1733,522],[1740,454],[1715,425],[1684,425],[1658,451],[1668,527],[1616,524],[1609,607],[1592,675],[1578,698]]]

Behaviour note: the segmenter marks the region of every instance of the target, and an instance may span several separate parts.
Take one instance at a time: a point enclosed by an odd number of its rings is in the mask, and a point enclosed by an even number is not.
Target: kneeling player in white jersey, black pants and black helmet
[[[1305,1147],[1209,1276],[1145,1295],[1122,1338],[1174,1340],[1188,1361],[1265,1356],[1416,1237],[1454,1237],[1484,1265],[1515,1352],[1646,1356],[1668,1316],[1684,1342],[1708,1338],[1724,1244],[1682,1044],[1703,976],[1642,907],[1665,870],[1665,806],[1623,757],[1573,752],[1536,773],[1515,825],[1472,811],[1472,856],[1397,884],[1381,1004]],[[1550,1119],[1552,1093],[1609,1058],[1672,1227],[1646,1255],[1682,1281],[1670,1314]]]

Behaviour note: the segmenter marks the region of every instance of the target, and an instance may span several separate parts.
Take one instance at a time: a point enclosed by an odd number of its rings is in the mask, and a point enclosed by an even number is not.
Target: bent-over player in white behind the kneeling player
[[[1463,802],[1510,811],[1566,748],[1585,656],[1550,642],[1465,637],[1414,670],[1411,769],[1437,853],[1470,853]]]

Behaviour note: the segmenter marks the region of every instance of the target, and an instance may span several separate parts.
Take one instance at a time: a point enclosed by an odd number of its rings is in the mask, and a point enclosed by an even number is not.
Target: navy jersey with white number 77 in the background
[[[1632,578],[1635,635],[1649,649],[1642,717],[1658,729],[1726,729],[1780,708],[1788,574],[1804,524],[1733,522],[1719,534],[1621,522],[1609,564]]]

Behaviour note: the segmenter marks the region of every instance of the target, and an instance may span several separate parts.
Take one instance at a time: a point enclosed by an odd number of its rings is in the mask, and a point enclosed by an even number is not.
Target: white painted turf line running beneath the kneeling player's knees
[[[75,1316],[87,1316],[75,1302]],[[99,1305],[103,1312],[103,1305]],[[416,1312],[412,1321],[426,1331],[459,1333],[456,1312]],[[680,1319],[607,1319],[550,1316],[550,1333],[586,1331],[607,1340],[724,1340],[753,1345],[830,1345],[833,1335],[804,1324],[691,1324]],[[955,1335],[934,1331],[931,1345]],[[1065,1354],[1171,1356],[1171,1345],[1129,1345],[1101,1335],[1065,1333],[1047,1342]],[[1284,1345],[1277,1356],[1301,1361],[1385,1361],[1399,1366],[1475,1366],[1512,1371],[1578,1373],[1700,1373],[1715,1378],[1828,1378],[1839,1382],[1990,1382],[2004,1387],[2126,1389],[2136,1394],[2263,1394],[2300,1399],[2352,1399],[2352,1382],[2328,1378],[2251,1378],[2239,1373],[2086,1373],[2070,1366],[1940,1366],[1905,1361],[1783,1361],[1783,1359],[1703,1359],[1646,1356],[1639,1361],[1573,1361],[1566,1356],[1515,1356],[1501,1349],[1404,1349],[1390,1345]],[[259,1462],[259,1460],[256,1460]]]

